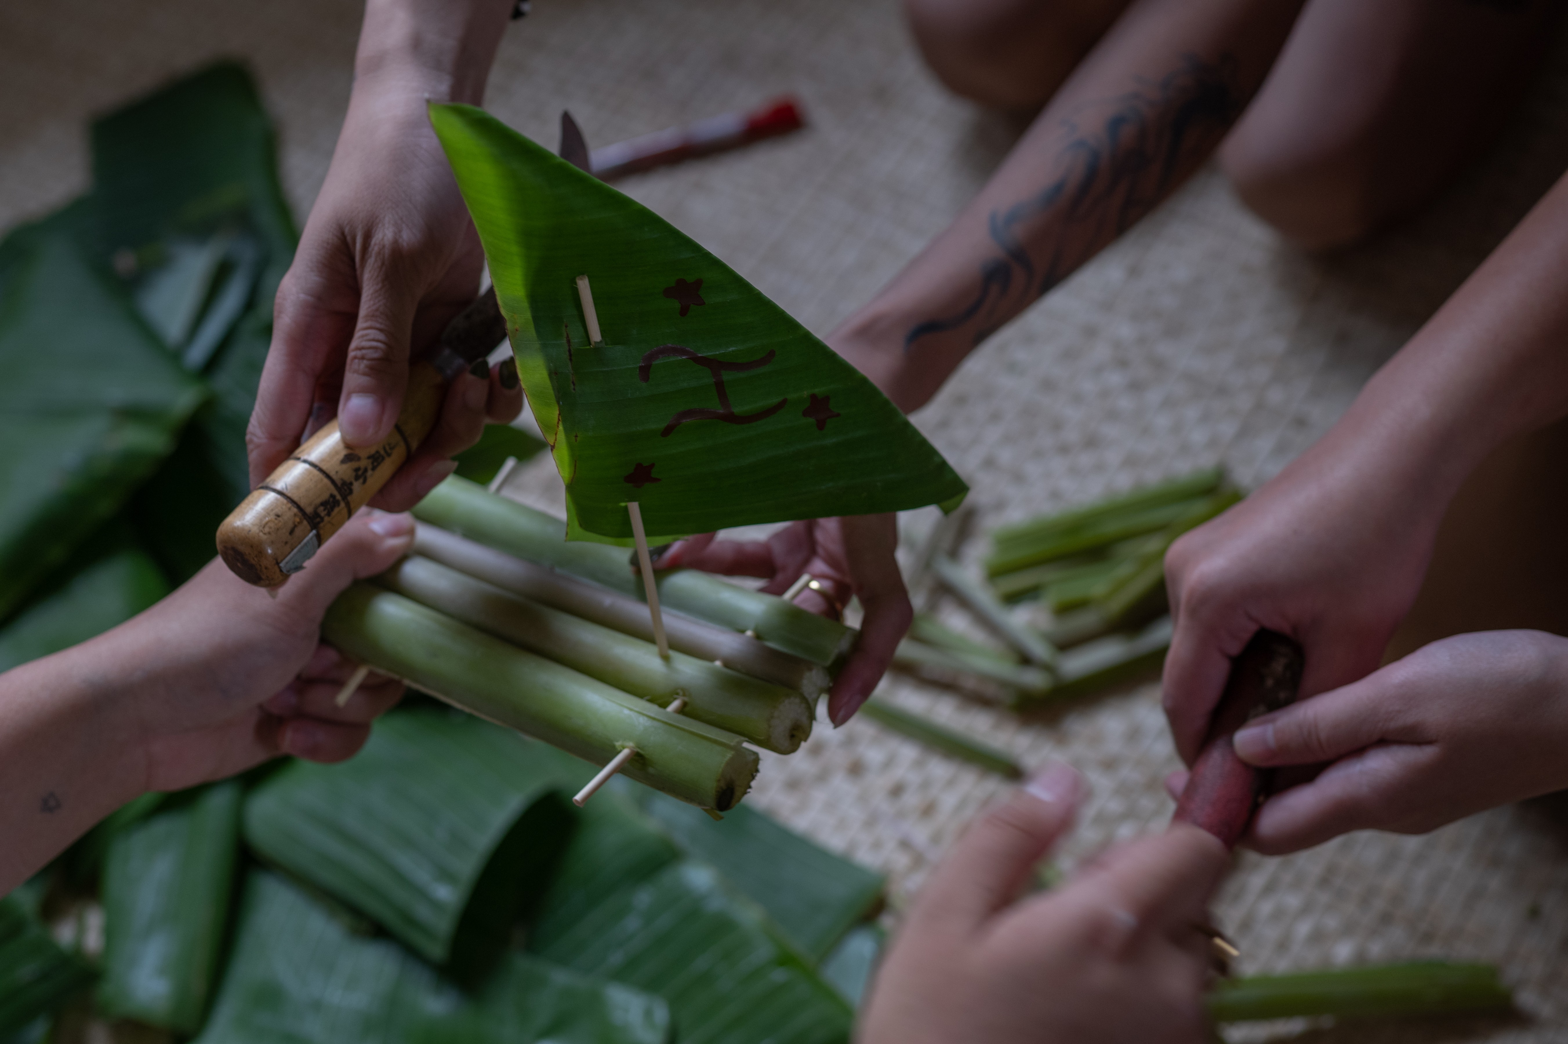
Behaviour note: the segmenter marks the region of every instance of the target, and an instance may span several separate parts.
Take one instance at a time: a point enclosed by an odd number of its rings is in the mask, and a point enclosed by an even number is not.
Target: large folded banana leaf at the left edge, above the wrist
[[[0,243],[0,618],[121,509],[207,395],[91,260],[85,215]]]

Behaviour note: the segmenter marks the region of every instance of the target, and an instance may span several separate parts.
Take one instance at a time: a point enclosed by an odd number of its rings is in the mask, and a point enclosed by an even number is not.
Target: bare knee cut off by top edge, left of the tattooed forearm
[[[996,108],[1046,103],[1131,0],[905,0],[927,64]]]

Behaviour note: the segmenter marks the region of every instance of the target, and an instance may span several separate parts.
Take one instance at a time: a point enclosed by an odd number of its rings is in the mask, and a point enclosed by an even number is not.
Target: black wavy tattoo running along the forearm
[[[1204,61],[1187,55],[1157,83],[1083,105],[1085,111],[1110,107],[1098,130],[1085,132],[1076,119],[1063,121],[1066,143],[1051,183],[991,212],[986,230],[1000,254],[980,263],[974,298],[952,315],[913,326],[903,339],[905,351],[922,337],[975,320],[978,345],[1152,210],[1240,114],[1234,66],[1229,56]],[[1024,235],[1046,215],[1060,221],[1060,234],[1036,262]]]

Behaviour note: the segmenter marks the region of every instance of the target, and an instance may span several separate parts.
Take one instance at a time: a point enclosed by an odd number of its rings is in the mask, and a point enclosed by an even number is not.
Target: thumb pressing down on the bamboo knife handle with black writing
[[[365,260],[337,401],[337,428],[350,448],[375,447],[392,434],[408,389],[409,339],[420,296],[384,259]]]

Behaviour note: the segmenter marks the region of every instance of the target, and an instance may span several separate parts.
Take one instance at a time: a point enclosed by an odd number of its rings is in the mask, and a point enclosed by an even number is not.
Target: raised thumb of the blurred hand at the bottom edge
[[[938,864],[911,922],[967,931],[1019,894],[1035,864],[1073,826],[1083,781],[1057,762],[975,820]]]

